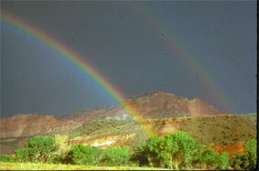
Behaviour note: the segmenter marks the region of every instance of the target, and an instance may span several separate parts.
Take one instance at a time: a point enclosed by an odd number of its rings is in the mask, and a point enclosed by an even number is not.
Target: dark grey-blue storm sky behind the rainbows
[[[226,113],[256,111],[255,1],[1,1],[1,10],[83,56],[126,97],[160,90]],[[1,116],[115,104],[77,66],[1,20]]]

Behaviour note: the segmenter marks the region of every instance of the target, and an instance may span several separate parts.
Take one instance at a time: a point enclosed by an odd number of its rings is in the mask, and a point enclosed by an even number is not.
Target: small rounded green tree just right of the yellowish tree
[[[84,146],[82,144],[72,146],[69,150],[66,161],[77,165],[93,165],[94,149],[92,146]]]

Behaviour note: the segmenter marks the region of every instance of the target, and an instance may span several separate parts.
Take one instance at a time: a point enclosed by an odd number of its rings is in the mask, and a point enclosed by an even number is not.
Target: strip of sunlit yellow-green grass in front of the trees
[[[79,166],[63,164],[4,163],[0,162],[0,170],[167,170],[155,167],[139,166]]]

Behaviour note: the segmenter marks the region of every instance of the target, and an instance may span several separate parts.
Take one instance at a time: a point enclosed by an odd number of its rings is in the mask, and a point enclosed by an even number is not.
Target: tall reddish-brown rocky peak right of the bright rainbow
[[[177,116],[214,116],[223,114],[199,98],[189,100],[181,96],[154,92],[140,94],[125,101],[141,118]]]

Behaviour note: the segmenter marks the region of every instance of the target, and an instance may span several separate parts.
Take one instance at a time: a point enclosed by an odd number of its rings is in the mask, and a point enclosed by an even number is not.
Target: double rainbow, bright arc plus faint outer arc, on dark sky
[[[155,17],[151,12],[149,12],[150,10],[145,9],[144,7],[140,7],[140,5],[134,6],[131,3],[129,3],[129,5],[134,8],[134,10],[141,16],[141,18],[143,18],[147,25],[151,25],[151,27],[159,33],[164,33],[164,35],[168,35],[164,36],[167,45],[173,47],[171,49],[182,56],[184,64],[192,68],[196,75],[199,75],[204,78],[204,80],[206,80],[204,82],[204,85],[207,92],[211,93],[211,96],[214,96],[214,98],[216,98],[218,102],[222,102],[222,106],[224,106],[225,109],[230,110],[229,106],[226,106],[225,103],[226,97],[224,96],[226,96],[227,94],[224,93],[222,87],[212,79],[213,76],[208,74],[207,69],[202,66],[202,62],[198,61],[199,57],[195,57],[194,55],[188,53],[186,48],[184,48],[183,43],[181,43],[180,39],[177,38],[177,35],[172,33],[172,31],[166,29],[166,26],[164,26],[164,24],[160,22],[159,18],[157,18],[157,16]],[[30,27],[28,24],[25,23],[25,21],[16,18],[14,15],[10,15],[5,11],[2,11],[1,19],[4,22],[13,25],[17,29],[23,31],[25,34],[34,37],[37,41],[52,48],[53,50],[55,50],[55,52],[65,57],[67,61],[80,68],[83,72],[85,72],[86,75],[88,75],[93,81],[95,81],[95,83],[99,85],[100,88],[105,90],[105,92],[109,96],[111,96],[115,100],[115,102],[122,106],[122,108],[125,109],[126,113],[133,116],[135,120],[139,122],[141,115],[134,109],[133,106],[125,103],[125,96],[115,87],[115,85],[106,80],[104,75],[100,75],[100,73],[98,73],[92,65],[85,61],[84,57],[77,55],[67,46],[61,44],[50,35],[45,34],[40,29]],[[144,128],[144,126],[142,127]],[[147,135],[151,135],[151,132],[145,128],[144,132]]]

